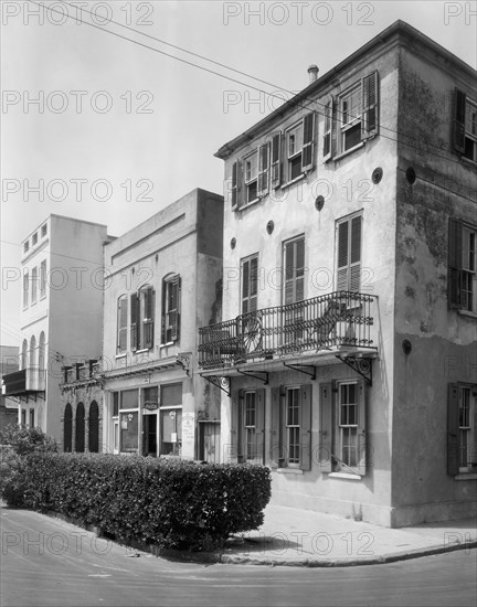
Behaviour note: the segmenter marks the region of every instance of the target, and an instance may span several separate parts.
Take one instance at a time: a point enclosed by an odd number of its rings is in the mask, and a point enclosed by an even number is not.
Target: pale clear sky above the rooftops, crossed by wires
[[[21,339],[4,268],[51,213],[120,235],[194,188],[222,193],[213,153],[278,107],[268,93],[289,98],[310,64],[325,74],[398,19],[476,67],[477,2],[35,1],[1,0],[2,344]]]

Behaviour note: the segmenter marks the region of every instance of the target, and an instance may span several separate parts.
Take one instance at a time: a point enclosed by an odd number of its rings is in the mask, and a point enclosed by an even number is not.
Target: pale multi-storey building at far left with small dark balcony
[[[106,226],[50,215],[22,243],[20,370],[3,376],[19,420],[62,440],[61,368],[102,352]]]

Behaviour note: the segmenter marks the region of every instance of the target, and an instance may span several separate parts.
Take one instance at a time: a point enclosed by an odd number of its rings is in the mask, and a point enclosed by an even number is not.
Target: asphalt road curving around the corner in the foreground
[[[471,606],[477,551],[361,567],[186,564],[34,512],[2,509],[1,605]]]

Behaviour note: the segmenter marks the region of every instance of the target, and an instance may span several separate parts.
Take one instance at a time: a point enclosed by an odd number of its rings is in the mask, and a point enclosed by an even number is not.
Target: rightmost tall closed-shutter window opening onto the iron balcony
[[[337,290],[359,291],[361,286],[361,215],[337,222]]]

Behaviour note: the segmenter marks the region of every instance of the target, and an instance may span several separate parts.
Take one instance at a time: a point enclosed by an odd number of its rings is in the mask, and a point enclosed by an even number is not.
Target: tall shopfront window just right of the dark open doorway
[[[160,455],[181,455],[182,448],[182,384],[161,386]]]

